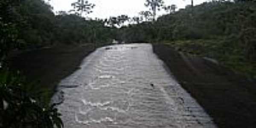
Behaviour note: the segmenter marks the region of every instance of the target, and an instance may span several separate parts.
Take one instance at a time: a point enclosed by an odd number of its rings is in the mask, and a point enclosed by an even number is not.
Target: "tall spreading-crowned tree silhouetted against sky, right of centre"
[[[163,0],[146,0],[145,6],[149,7],[150,10],[153,12],[153,21],[155,21],[157,11],[160,11],[160,9],[164,6],[164,2]]]

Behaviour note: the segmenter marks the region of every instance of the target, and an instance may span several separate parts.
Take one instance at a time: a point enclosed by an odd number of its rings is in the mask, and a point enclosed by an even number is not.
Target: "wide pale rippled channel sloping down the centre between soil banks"
[[[65,128],[216,128],[150,44],[102,47],[80,67],[52,98]]]

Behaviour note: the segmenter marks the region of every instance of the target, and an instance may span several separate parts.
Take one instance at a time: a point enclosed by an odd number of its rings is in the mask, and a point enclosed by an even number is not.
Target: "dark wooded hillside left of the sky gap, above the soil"
[[[86,19],[76,13],[55,15],[44,0],[1,1],[0,9],[3,24],[12,23],[17,30],[17,48],[109,42],[116,35],[103,20]]]

